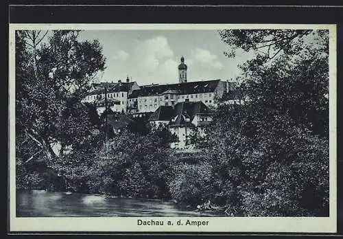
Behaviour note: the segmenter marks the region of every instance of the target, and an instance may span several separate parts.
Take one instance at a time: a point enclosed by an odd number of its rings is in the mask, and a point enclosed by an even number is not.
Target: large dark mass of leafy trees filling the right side
[[[221,106],[203,145],[212,194],[235,216],[329,213],[328,31],[223,30],[244,105]]]

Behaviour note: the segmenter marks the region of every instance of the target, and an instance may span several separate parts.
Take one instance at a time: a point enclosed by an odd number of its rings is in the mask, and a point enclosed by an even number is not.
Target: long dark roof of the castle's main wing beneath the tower
[[[142,86],[141,89],[132,91],[128,98],[137,98],[139,96],[161,95],[166,91],[178,91],[180,95],[194,93],[209,93],[214,92],[220,80],[206,80],[185,82],[176,84],[157,84]]]

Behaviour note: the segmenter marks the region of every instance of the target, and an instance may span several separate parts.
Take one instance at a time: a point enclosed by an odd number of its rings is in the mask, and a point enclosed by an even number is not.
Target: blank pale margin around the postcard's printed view
[[[337,231],[337,33],[336,25],[298,24],[10,24],[9,32],[9,178],[10,231],[172,231],[335,233]],[[16,217],[15,185],[15,30],[220,30],[220,29],[328,29],[329,30],[329,217]],[[172,226],[138,226],[137,219],[171,220]],[[209,226],[177,226],[177,220],[209,220]]]

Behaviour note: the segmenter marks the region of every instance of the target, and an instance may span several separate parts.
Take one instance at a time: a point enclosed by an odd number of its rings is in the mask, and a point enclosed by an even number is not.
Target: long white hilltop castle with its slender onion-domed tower
[[[178,65],[178,83],[150,84],[139,86],[137,82],[111,82],[93,84],[93,91],[84,102],[97,105],[99,114],[105,110],[105,86],[107,84],[107,105],[115,112],[128,112],[134,116],[152,113],[159,106],[174,106],[178,102],[203,102],[215,107],[233,91],[234,83],[216,80],[198,80],[187,82],[187,65],[185,58],[180,58]],[[235,102],[235,99],[227,101]]]

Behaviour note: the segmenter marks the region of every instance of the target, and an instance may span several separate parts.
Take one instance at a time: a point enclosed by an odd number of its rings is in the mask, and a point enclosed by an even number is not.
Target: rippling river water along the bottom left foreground
[[[16,216],[224,216],[171,201],[29,190],[16,192]]]

